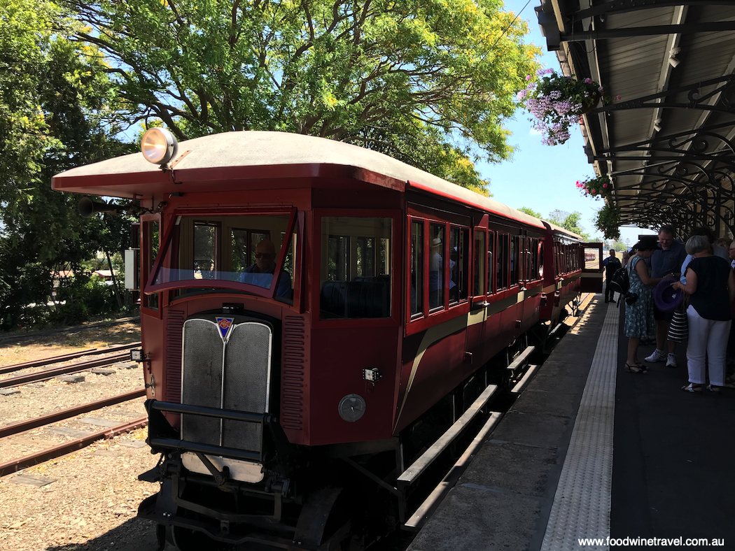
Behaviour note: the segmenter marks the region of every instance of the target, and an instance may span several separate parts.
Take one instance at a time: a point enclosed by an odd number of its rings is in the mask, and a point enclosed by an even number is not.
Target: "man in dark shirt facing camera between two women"
[[[650,276],[661,281],[665,278],[679,277],[681,264],[686,259],[686,249],[680,242],[674,240],[673,226],[662,226],[659,230],[659,245],[661,248],[653,251],[650,257]],[[667,339],[669,325],[674,313],[663,312],[653,305],[653,317],[656,318],[656,350],[645,361],[664,361],[666,367],[676,367],[676,343]],[[668,350],[668,354],[666,353]]]

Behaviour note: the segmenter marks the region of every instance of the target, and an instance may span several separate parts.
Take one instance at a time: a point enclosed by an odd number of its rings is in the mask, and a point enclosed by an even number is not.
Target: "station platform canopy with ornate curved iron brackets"
[[[620,100],[582,119],[621,225],[735,231],[735,1],[542,0],[562,71]]]

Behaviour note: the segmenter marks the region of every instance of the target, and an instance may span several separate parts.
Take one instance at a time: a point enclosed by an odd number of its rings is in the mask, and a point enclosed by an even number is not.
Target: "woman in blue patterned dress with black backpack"
[[[625,361],[625,371],[631,373],[647,372],[644,364],[638,361],[638,345],[641,339],[656,334],[656,320],[653,319],[653,287],[663,278],[651,278],[645,259],[650,259],[653,251],[658,248],[656,236],[646,236],[634,245],[635,255],[628,260],[628,275],[630,276],[629,292],[638,296],[637,300],[625,303],[625,336],[628,337],[628,359]]]

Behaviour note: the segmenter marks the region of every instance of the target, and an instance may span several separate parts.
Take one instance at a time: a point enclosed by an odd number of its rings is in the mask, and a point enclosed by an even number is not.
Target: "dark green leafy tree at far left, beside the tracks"
[[[114,87],[98,51],[68,40],[75,25],[49,1],[0,4],[0,327],[6,329],[46,317],[54,273],[78,270],[100,249],[118,250],[129,231],[129,222],[83,220],[78,195],[51,190],[54,173],[126,152],[107,124]]]

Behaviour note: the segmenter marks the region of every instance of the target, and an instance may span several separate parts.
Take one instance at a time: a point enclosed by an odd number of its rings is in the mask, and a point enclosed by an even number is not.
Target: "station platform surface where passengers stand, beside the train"
[[[595,295],[409,551],[735,550],[735,389],[682,392],[686,343],[625,372],[622,320]]]

